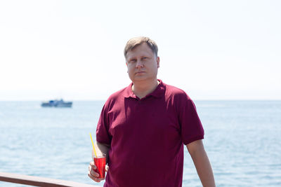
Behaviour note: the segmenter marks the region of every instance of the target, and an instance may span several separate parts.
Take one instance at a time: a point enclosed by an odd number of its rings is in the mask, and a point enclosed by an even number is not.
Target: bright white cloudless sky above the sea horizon
[[[105,100],[126,41],[192,99],[281,99],[281,1],[0,1],[0,100]]]

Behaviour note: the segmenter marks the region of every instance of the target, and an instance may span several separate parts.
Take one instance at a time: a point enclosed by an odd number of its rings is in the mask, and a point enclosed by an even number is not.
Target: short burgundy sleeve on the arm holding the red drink
[[[100,118],[98,120],[98,125],[96,128],[96,141],[101,144],[110,145],[112,137],[110,136],[109,128],[110,125],[107,116],[107,107],[105,104],[100,113]]]

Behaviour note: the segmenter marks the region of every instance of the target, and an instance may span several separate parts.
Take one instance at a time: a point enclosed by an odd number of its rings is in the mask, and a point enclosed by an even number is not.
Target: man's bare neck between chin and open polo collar
[[[152,81],[150,83],[133,83],[132,85],[132,92],[138,97],[138,98],[143,98],[146,95],[152,93],[156,88],[157,85],[159,85],[159,81],[157,79],[155,81]]]

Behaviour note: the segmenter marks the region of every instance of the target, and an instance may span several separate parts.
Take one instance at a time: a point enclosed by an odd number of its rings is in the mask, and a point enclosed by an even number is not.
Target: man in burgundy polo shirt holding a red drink
[[[132,83],[107,99],[96,130],[98,152],[107,155],[104,186],[182,186],[183,144],[202,185],[215,186],[195,105],[183,90],[157,79],[157,51],[147,37],[126,43]],[[93,169],[91,162],[89,177],[98,182]]]

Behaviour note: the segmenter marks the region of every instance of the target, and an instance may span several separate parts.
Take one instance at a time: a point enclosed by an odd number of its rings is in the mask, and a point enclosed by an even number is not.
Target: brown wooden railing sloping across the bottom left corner
[[[5,172],[0,172],[0,181],[44,187],[98,187],[86,183],[77,183],[73,181],[63,181],[59,179],[49,179],[39,176],[28,176],[23,174],[12,174]]]

